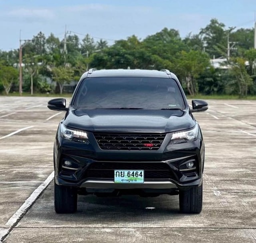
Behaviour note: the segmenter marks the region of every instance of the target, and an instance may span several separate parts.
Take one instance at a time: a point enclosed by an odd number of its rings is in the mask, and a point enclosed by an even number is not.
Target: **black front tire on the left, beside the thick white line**
[[[77,210],[77,191],[71,186],[54,181],[54,208],[56,213],[73,213]]]

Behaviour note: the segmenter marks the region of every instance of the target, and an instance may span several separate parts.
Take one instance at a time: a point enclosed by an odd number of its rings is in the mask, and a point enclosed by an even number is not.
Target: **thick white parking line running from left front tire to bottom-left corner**
[[[43,190],[48,186],[50,181],[54,177],[54,171],[41,183],[33,192],[32,194],[25,200],[25,202],[18,208],[18,210],[9,218],[5,225],[9,226],[8,230],[0,234],[0,242],[12,228],[18,223],[21,217],[27,212],[27,210],[32,206],[35,200],[39,197],[39,195],[43,192]]]

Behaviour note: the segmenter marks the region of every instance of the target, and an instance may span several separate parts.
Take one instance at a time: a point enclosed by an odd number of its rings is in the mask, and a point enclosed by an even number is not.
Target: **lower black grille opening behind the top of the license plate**
[[[86,178],[114,179],[115,169],[144,170],[144,179],[169,179],[170,167],[161,162],[95,162],[86,170]]]

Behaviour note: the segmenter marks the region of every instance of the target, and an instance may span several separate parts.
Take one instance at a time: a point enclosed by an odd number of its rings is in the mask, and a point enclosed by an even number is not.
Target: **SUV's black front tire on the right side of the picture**
[[[189,190],[179,191],[179,211],[182,213],[200,213],[202,210],[202,183]]]

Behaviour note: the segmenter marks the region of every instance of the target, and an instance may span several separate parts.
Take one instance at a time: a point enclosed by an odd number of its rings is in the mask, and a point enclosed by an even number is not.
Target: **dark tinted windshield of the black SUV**
[[[73,102],[76,109],[183,109],[175,80],[158,77],[85,78]]]

